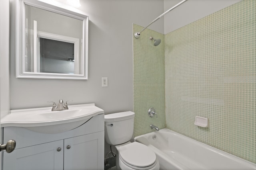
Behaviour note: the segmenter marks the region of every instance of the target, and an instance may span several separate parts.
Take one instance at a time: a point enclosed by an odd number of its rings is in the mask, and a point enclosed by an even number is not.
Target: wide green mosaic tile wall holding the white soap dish
[[[256,0],[165,35],[168,129],[256,163],[255,37]]]

